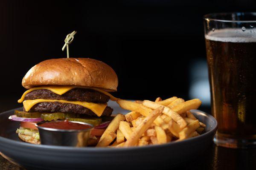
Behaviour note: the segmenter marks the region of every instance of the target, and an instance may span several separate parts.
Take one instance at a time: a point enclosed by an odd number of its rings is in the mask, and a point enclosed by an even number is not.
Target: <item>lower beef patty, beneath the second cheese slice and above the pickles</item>
[[[25,111],[25,109],[23,108]],[[111,116],[113,109],[106,107],[102,113],[102,116]],[[96,116],[93,111],[88,108],[84,108],[81,105],[74,105],[69,103],[61,102],[41,102],[35,104],[29,112],[46,112],[46,113],[55,113],[55,112],[65,112],[65,113],[77,113],[77,114],[86,114],[89,116]]]

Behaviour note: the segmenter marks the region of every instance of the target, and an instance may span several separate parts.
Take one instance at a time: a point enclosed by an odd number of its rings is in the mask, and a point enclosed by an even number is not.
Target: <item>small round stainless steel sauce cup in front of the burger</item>
[[[89,125],[90,127],[83,130],[62,130],[62,129],[54,129],[54,128],[40,126],[45,122],[47,121],[38,122],[36,124],[36,127],[38,127],[41,144],[47,144],[47,145],[85,147],[88,144],[91,130],[94,127],[93,125],[88,123],[75,122],[75,121],[70,121],[70,122]],[[53,122],[63,122],[63,121],[53,121]]]

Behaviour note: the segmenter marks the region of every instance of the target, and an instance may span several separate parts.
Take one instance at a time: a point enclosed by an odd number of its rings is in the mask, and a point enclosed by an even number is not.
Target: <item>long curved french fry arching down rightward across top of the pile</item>
[[[160,106],[163,106],[163,105],[157,104],[156,102],[151,102],[149,100],[144,100],[142,104],[145,105],[146,107],[152,108],[152,109],[156,109]],[[163,113],[167,116],[170,116],[175,122],[177,122],[177,124],[180,125],[181,129],[186,127],[186,125],[187,125],[186,121],[179,114],[172,111],[170,108],[164,106]]]

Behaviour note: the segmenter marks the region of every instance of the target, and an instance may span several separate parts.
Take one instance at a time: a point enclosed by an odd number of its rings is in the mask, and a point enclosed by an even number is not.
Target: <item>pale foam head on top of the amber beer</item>
[[[209,31],[205,39],[221,42],[256,42],[256,29],[226,28]]]

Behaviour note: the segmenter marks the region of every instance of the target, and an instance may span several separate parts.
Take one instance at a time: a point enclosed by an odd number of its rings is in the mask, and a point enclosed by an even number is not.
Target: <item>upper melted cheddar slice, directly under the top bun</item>
[[[25,95],[30,93],[31,91],[34,91],[34,90],[41,90],[41,89],[45,89],[45,90],[49,90],[49,91],[52,91],[53,93],[55,94],[58,94],[58,95],[62,95],[64,93],[66,93],[67,91],[70,91],[71,89],[73,88],[89,88],[89,89],[92,89],[92,90],[95,90],[95,91],[99,91],[107,96],[110,97],[111,100],[113,101],[116,101],[117,98],[112,96],[111,94],[109,94],[108,92],[106,91],[103,91],[99,88],[90,88],[90,87],[83,87],[83,86],[71,86],[71,85],[65,85],[65,86],[61,86],[61,85],[50,85],[50,86],[41,86],[41,87],[36,87],[36,88],[31,88],[27,91],[25,91],[23,93],[23,95],[21,96],[21,98],[18,100],[19,103],[23,102],[24,101],[24,98],[25,98]]]

